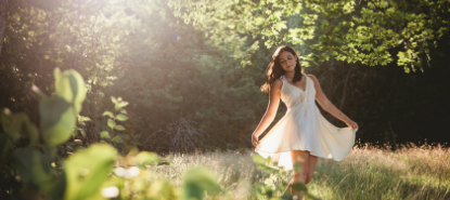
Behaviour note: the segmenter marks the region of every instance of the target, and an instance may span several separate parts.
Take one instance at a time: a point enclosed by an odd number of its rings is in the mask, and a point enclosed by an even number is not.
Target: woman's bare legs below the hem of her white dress
[[[307,178],[308,178],[308,174],[309,174],[309,151],[304,151],[304,150],[291,150],[291,159],[292,162],[298,163],[300,165],[300,171],[294,171],[294,179],[293,183],[306,183]],[[316,165],[316,163],[314,163]],[[298,199],[301,200],[303,196],[300,195],[300,192],[294,190],[291,188],[291,195],[296,195],[298,196]]]

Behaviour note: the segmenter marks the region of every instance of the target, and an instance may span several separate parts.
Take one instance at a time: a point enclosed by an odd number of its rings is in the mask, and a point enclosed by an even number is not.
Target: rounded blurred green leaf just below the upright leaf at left
[[[42,98],[39,102],[39,114],[42,137],[47,145],[60,145],[70,137],[78,115],[64,98]]]

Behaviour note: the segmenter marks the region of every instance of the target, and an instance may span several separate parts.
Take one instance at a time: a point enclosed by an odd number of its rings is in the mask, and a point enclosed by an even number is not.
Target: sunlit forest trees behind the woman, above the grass
[[[2,0],[0,107],[38,124],[31,92],[75,69],[78,136],[156,152],[250,148],[280,44],[373,144],[450,141],[449,1]],[[112,130],[111,97],[128,102]],[[115,98],[117,101],[117,98]],[[278,119],[284,115],[280,106]],[[322,110],[323,111],[323,110]],[[324,112],[323,112],[324,114]],[[345,124],[324,114],[334,124]],[[115,124],[116,122],[114,122]],[[110,138],[102,137],[107,131]]]

